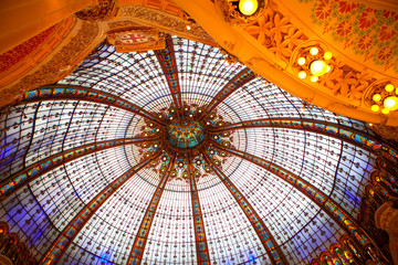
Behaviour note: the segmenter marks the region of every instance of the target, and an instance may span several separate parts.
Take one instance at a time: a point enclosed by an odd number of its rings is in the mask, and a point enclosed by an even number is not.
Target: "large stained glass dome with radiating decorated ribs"
[[[43,264],[305,264],[366,241],[371,130],[213,46],[103,43],[1,129],[0,218]]]

